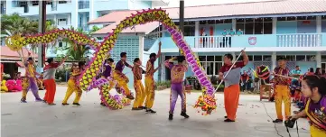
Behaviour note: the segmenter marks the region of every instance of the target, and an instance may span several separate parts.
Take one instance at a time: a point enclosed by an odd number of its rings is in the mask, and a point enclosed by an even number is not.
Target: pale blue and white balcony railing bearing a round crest
[[[173,49],[175,44],[170,37],[161,38],[164,48]],[[193,47],[207,48],[310,48],[326,47],[326,33],[297,33],[297,34],[260,34],[233,36],[187,36],[185,41]]]

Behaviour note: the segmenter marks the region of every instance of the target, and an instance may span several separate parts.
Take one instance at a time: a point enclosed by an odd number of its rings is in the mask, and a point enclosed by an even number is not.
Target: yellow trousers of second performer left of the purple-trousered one
[[[144,92],[144,86],[142,80],[135,80],[134,87],[135,87],[135,101],[133,107],[136,108],[139,106],[143,106],[144,104],[145,92]]]

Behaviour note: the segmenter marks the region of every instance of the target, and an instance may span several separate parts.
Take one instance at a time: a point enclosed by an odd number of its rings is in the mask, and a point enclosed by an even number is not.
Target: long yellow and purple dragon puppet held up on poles
[[[138,24],[160,22],[163,27],[170,32],[172,40],[177,47],[182,51],[182,55],[185,56],[186,61],[190,64],[192,71],[196,78],[199,80],[202,87],[203,95],[199,97],[194,107],[199,107],[203,114],[210,114],[216,109],[216,99],[214,96],[214,87],[210,83],[210,79],[206,75],[206,72],[200,65],[198,57],[192,52],[191,47],[184,41],[182,31],[172,22],[172,19],[163,9],[148,9],[139,11],[136,14],[132,14],[126,17],[116,25],[116,29],[110,32],[108,36],[102,42],[96,42],[89,39],[87,36],[73,32],[71,30],[54,30],[51,32],[45,32],[43,34],[26,35],[21,37],[15,35],[9,37],[10,42],[7,44],[11,50],[21,50],[28,44],[40,44],[56,41],[59,38],[68,38],[81,45],[89,45],[95,50],[93,58],[89,61],[88,66],[80,74],[76,84],[84,91],[89,91],[92,88],[101,87],[101,95],[104,98],[105,104],[110,108],[120,109],[126,104],[125,96],[111,96],[109,91],[109,80],[107,78],[96,79],[100,68],[102,68],[105,59],[109,56],[109,52],[114,48],[118,34],[128,27],[134,27]]]

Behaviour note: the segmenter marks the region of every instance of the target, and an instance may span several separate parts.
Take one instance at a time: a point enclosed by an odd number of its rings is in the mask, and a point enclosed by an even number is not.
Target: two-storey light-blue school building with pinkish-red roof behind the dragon
[[[209,76],[219,74],[224,54],[231,53],[236,59],[244,48],[250,59],[245,70],[262,64],[275,68],[280,56],[288,59],[288,68],[298,65],[303,73],[308,68],[326,68],[325,4],[325,0],[284,0],[185,7],[184,39],[198,54]],[[166,11],[179,24],[179,8]],[[89,24],[105,26],[94,33],[96,37],[105,37],[116,23],[131,14],[136,11],[116,11]],[[230,35],[230,32],[235,34]],[[139,57],[145,66],[149,53],[157,52],[158,41],[163,43],[163,54],[155,66],[179,54],[170,34],[160,23],[146,23],[127,28],[120,34],[113,57],[117,60],[119,52],[126,51],[129,60]],[[128,75],[133,78],[131,73]],[[186,75],[192,76],[191,68]],[[155,80],[169,78],[170,73],[164,67],[155,74]]]

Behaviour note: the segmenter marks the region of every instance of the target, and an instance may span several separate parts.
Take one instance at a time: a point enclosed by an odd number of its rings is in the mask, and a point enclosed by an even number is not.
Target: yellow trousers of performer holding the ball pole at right
[[[291,93],[288,86],[276,85],[275,87],[275,107],[277,119],[283,120],[282,102],[284,102],[285,119],[291,116]]]

